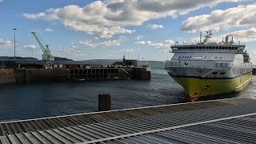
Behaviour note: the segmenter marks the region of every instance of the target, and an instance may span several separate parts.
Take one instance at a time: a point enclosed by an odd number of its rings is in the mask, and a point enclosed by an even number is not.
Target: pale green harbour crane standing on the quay
[[[52,62],[54,61],[54,56],[50,54],[50,49],[49,49],[49,45],[43,46],[42,43],[39,41],[37,35],[35,34],[35,32],[31,32],[31,34],[34,35],[34,38],[37,40],[38,45],[40,46],[41,50],[42,50],[42,60],[45,61],[45,69],[52,69]]]

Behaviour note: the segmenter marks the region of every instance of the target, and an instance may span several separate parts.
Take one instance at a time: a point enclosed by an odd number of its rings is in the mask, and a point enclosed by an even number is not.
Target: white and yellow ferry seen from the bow
[[[204,40],[191,45],[171,47],[173,57],[165,62],[165,69],[190,98],[226,94],[243,90],[252,79],[252,63],[246,45],[234,43],[229,36],[225,42],[210,42],[211,30]]]

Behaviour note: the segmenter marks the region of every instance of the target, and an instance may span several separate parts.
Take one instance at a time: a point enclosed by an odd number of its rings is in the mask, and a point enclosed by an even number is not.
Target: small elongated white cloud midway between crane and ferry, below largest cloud
[[[104,42],[93,43],[92,41],[80,41],[79,44],[83,46],[89,46],[90,48],[102,48],[102,47],[109,47],[109,46],[120,46],[122,42],[125,41],[124,37],[120,37],[115,40],[109,40]]]

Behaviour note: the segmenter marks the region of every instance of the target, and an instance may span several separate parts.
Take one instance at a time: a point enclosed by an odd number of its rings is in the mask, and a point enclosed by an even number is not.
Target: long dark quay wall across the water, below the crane
[[[3,69],[0,84],[89,81],[106,79],[150,79],[146,68],[94,68],[94,69]]]

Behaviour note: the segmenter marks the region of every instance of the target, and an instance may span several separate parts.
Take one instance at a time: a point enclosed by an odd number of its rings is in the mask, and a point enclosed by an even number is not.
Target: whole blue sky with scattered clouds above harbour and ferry
[[[197,43],[200,30],[213,40],[230,34],[256,62],[256,0],[0,0],[0,55],[42,59],[170,59],[174,42]]]

